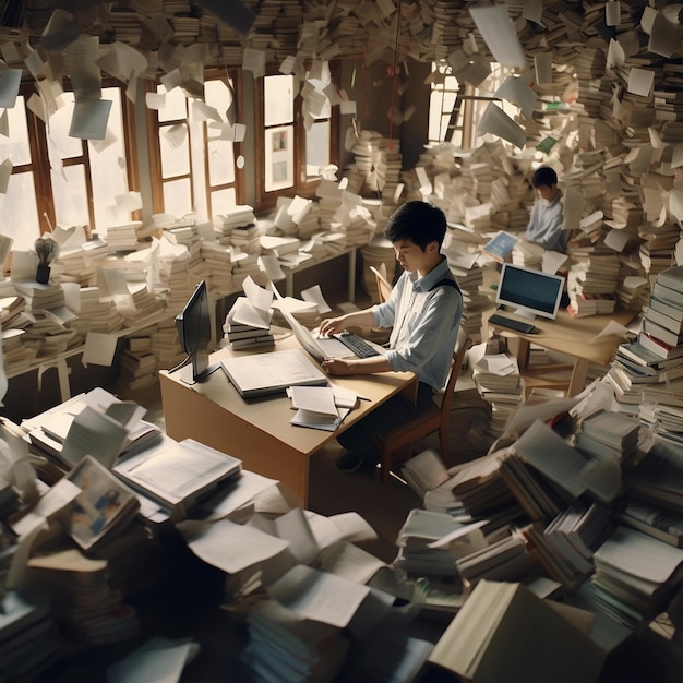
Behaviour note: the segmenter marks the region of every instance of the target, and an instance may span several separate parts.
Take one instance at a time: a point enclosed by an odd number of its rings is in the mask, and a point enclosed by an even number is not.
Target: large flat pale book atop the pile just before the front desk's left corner
[[[120,459],[113,471],[133,489],[166,508],[185,510],[218,486],[238,477],[242,462],[194,439],[169,436],[156,446]]]

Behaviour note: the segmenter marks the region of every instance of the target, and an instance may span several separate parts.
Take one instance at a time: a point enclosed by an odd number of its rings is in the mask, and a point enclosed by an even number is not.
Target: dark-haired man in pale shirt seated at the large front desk
[[[376,465],[380,453],[373,436],[412,417],[430,405],[446,382],[463,314],[463,297],[441,245],[446,233],[443,212],[427,202],[407,202],[390,217],[385,236],[404,268],[385,303],[323,321],[320,332],[332,335],[351,326],[393,327],[390,349],[363,359],[326,359],[332,375],[391,370],[418,375],[414,404],[394,396],[339,434],[344,451],[337,467],[352,472],[363,464]]]

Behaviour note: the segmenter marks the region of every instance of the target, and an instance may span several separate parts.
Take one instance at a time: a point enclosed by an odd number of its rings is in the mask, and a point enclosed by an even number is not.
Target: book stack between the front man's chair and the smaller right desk
[[[479,395],[491,404],[489,431],[496,436],[525,400],[525,384],[517,360],[507,354],[484,355],[475,363],[472,379]]]

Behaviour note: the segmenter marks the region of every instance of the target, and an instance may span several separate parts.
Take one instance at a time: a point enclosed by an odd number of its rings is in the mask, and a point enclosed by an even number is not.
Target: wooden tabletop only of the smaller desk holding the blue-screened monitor
[[[488,314],[493,312],[491,310]],[[528,319],[506,311],[502,314],[506,317],[529,322]],[[519,337],[551,351],[559,351],[573,358],[606,366],[612,360],[616,347],[624,339],[618,335],[609,335],[599,339],[595,339],[595,337],[604,329],[610,321],[620,325],[627,325],[635,315],[634,311],[615,311],[604,315],[572,317],[564,309],[561,309],[555,320],[536,317],[534,326],[538,332],[535,334],[522,334],[506,327],[493,326],[501,334]]]

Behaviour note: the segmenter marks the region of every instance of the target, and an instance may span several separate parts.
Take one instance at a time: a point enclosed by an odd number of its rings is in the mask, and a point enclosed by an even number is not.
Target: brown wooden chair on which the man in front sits
[[[471,345],[472,340],[467,337],[460,343],[457,351],[453,354],[448,381],[444,390],[439,392],[441,395],[440,403],[434,400],[433,406],[429,406],[412,419],[397,424],[388,432],[378,435],[374,440],[380,448],[380,479],[382,482],[388,481],[391,464],[394,459],[407,459],[410,457],[412,442],[436,430],[439,430],[441,457],[444,463],[448,463],[451,453],[448,448],[448,417],[451,415],[451,404],[453,403],[453,392],[463,368],[465,355]],[[400,456],[404,457],[402,458]]]

